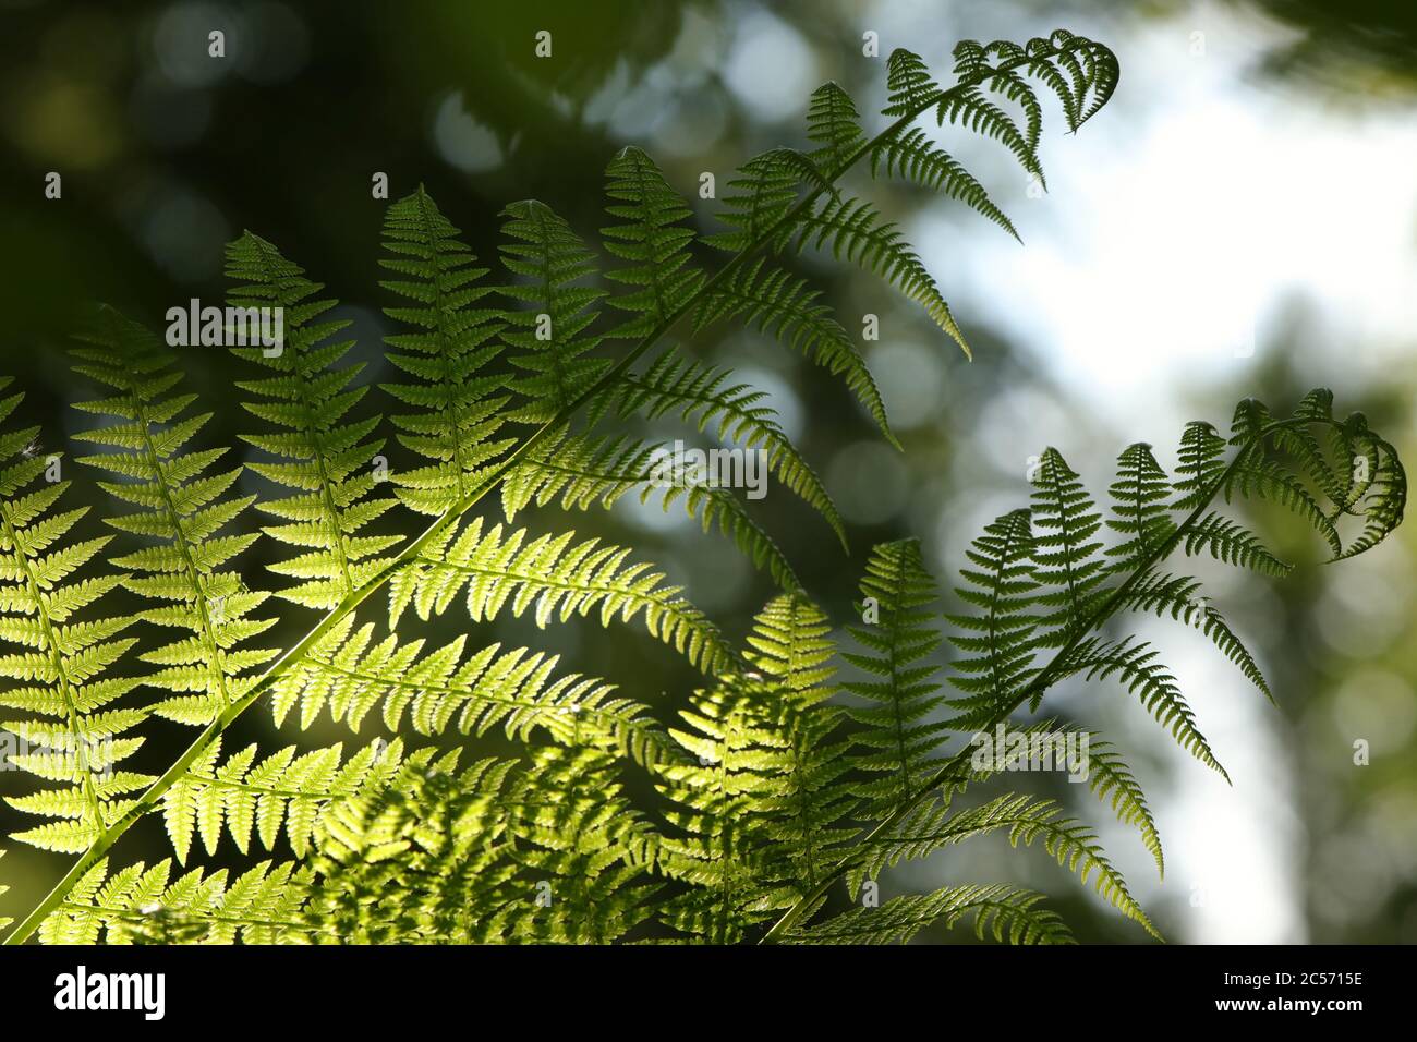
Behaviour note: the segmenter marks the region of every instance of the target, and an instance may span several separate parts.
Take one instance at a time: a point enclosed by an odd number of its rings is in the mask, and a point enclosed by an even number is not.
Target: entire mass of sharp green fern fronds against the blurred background
[[[9,940],[877,943],[972,920],[981,937],[1067,941],[1040,895],[1006,882],[879,907],[866,899],[867,882],[879,890],[894,866],[989,834],[1041,846],[1155,933],[1090,825],[1046,798],[976,798],[1007,764],[978,767],[952,739],[993,729],[1087,737],[1088,790],[1136,828],[1163,870],[1156,821],[1121,751],[1078,723],[1015,727],[1013,715],[1037,709],[1064,679],[1119,679],[1219,768],[1158,652],[1104,627],[1134,611],[1199,627],[1270,693],[1253,655],[1170,560],[1207,554],[1282,576],[1288,566],[1221,506],[1244,498],[1294,509],[1335,559],[1379,543],[1401,520],[1406,476],[1363,417],[1336,418],[1322,391],[1284,420],[1243,403],[1229,439],[1187,427],[1175,479],[1148,447],[1127,449],[1105,513],[1049,449],[1032,509],[1003,515],[969,549],[949,629],[935,625],[920,547],[888,543],[866,563],[853,645],[842,652],[786,554],[727,489],[669,488],[662,502],[717,523],[784,587],[741,649],[633,547],[558,523],[571,509],[648,499],[656,442],[642,425],[677,420],[764,449],[771,475],[845,544],[836,508],[762,394],[665,342],[720,322],[767,332],[842,377],[888,438],[856,344],[795,272],[795,255],[811,245],[879,271],[968,346],[914,250],[876,203],[839,187],[843,176],[862,164],[904,177],[1013,231],[930,133],[931,116],[937,129],[996,139],[1041,181],[1033,84],[1060,96],[1070,129],[1117,84],[1110,51],[1061,31],[1026,45],[964,43],[955,60],[944,86],[918,57],[891,55],[891,122],[874,135],[840,88],[819,89],[811,150],[748,159],[723,200],[726,231],[700,235],[663,173],[625,149],[606,170],[604,276],[543,203],[504,210],[504,278],[478,267],[427,191],[394,203],[383,285],[400,298],[387,310],[401,327],[387,357],[402,376],[381,384],[395,403],[391,430],[364,411],[359,366],[341,362],[351,344],[336,339],[347,323],[327,316],[333,301],[272,244],[242,235],[228,250],[231,303],[282,308],[286,330],[275,352],[237,349],[264,369],[239,383],[245,408],[268,425],[247,437],[261,454],[249,469],[265,479],[254,493],[232,495],[239,469],[208,474],[222,449],[188,448],[207,417],[187,414],[193,398],[174,393],[181,376],[156,337],[102,313],[78,371],[116,393],[82,408],[116,422],[81,437],[108,449],[86,459],[119,478],[103,488],[139,508],[112,519],[122,542],[109,567],[105,539],[61,544],[81,520],[48,513],[62,482],[30,491],[48,462],[26,451],[35,430],[0,435],[0,635],[21,646],[0,658],[20,682],[0,702],[26,717],[6,727],[71,746],[113,740],[106,758],[21,760],[47,784],[11,805],[50,821],[11,836],[82,856]],[[700,262],[696,238],[721,262]],[[0,401],[0,420],[18,404]],[[410,465],[387,466],[385,444]],[[388,493],[376,488],[384,476]],[[493,493],[502,522],[486,512]],[[248,586],[239,567],[258,536],[222,534],[247,506],[278,519],[264,529],[271,540],[296,547],[271,566],[293,580],[278,595],[324,612],[283,654],[247,648],[269,625],[251,617],[264,584]],[[547,508],[538,530],[513,527],[531,506]],[[405,512],[427,523],[407,540]],[[119,586],[160,604],[69,621]],[[387,612],[361,618],[376,594]],[[468,618],[434,637],[428,624],[455,600]],[[618,618],[677,649],[703,673],[700,690],[649,705],[544,651],[504,648],[485,624],[507,612],[540,627]],[[130,624],[137,637],[119,637]],[[163,628],[181,639],[167,634],[133,654]],[[959,652],[954,695],[938,680],[944,638]],[[101,676],[115,665],[133,679]],[[164,700],[130,705],[139,685]],[[347,747],[285,741],[224,756],[225,732],[258,702],[276,726],[327,729],[327,716],[377,733]],[[109,774],[137,751],[150,713],[203,730],[156,778]],[[411,734],[438,744],[408,749]],[[173,859],[111,868],[115,845],[147,815],[162,818],[179,863],[245,859],[254,842],[272,861],[176,878]],[[833,893],[843,880],[845,895]],[[843,896],[863,903],[843,906]]]

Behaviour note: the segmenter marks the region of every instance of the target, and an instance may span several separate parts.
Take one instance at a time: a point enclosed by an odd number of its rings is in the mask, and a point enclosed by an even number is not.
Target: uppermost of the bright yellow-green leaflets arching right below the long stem
[[[519,618],[534,605],[538,627],[595,608],[601,625],[616,615],[622,622],[643,615],[650,637],[699,669],[713,673],[728,663],[730,651],[718,629],[679,595],[679,587],[663,586],[663,573],[645,563],[628,564],[628,549],[602,546],[598,539],[572,544],[574,536],[565,532],[529,540],[526,529],[503,533],[500,525],[485,533],[482,517],[456,539],[449,527],[390,583],[390,624],[397,624],[408,605],[419,618],[442,614],[466,590],[475,622],[496,618],[509,603]]]

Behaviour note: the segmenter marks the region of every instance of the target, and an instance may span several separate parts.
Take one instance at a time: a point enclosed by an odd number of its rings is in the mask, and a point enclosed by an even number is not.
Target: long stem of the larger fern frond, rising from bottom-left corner
[[[908,112],[901,115],[896,122],[890,123],[884,130],[877,133],[874,138],[863,140],[854,152],[847,155],[840,164],[823,174],[823,184],[811,189],[798,203],[788,210],[781,218],[778,218],[772,225],[758,234],[758,237],[743,248],[738,254],[730,258],[718,271],[716,271],[710,278],[707,278],[696,292],[686,296],[683,303],[677,309],[667,313],[645,337],[635,344],[633,349],[626,352],[614,366],[606,369],[594,383],[591,383],[584,391],[571,398],[565,405],[563,405],[554,417],[547,420],[541,427],[531,432],[516,449],[513,449],[507,456],[502,459],[500,464],[492,466],[489,472],[478,482],[468,495],[462,496],[453,506],[451,506],[442,516],[439,516],[432,525],[429,525],[422,534],[418,536],[412,543],[410,543],[404,550],[394,557],[385,567],[383,567],[378,574],[367,580],[359,588],[350,590],[344,598],[329,611],[329,614],[320,620],[295,646],[292,646],[285,655],[276,659],[266,672],[252,685],[252,688],[242,695],[235,702],[230,703],[215,720],[213,720],[197,739],[187,747],[187,750],[177,758],[171,767],[169,767],[157,781],[154,781],[147,791],[133,804],[133,807],[118,821],[111,822],[103,834],[94,841],[94,845],[85,852],[74,866],[65,873],[65,876],[54,886],[54,889],[40,902],[28,916],[24,917],[4,939],[6,944],[20,944],[38,929],[40,923],[54,912],[68,896],[69,890],[74,889],[75,883],[84,876],[84,873],[92,868],[92,865],[102,858],[118,839],[137,821],[143,814],[156,809],[157,801],[170,790],[177,781],[183,778],[190,768],[235,720],[241,716],[256,699],[265,695],[271,686],[285,676],[290,669],[298,665],[316,645],[316,642],[324,637],[334,625],[337,625],[344,617],[354,611],[366,598],[370,597],[376,590],[383,587],[397,571],[411,563],[418,554],[427,547],[432,540],[442,534],[449,526],[455,525],[468,510],[470,510],[487,492],[495,489],[497,483],[520,464],[537,445],[540,445],[547,437],[554,434],[557,428],[567,424],[571,417],[574,417],[582,405],[595,398],[598,394],[611,387],[616,380],[623,377],[629,369],[643,357],[659,340],[669,333],[679,322],[687,316],[693,308],[704,298],[711,295],[718,286],[727,282],[743,265],[757,257],[760,251],[771,245],[784,228],[795,225],[801,217],[808,213],[808,210],[822,197],[823,193],[829,190],[829,186],[845,176],[853,166],[856,166],[863,157],[870,155],[883,142],[894,138],[901,130],[904,130],[910,123],[913,123],[920,115],[944,103],[951,96],[955,96],[969,88],[976,86],[998,71],[1013,69],[1020,65],[1027,65],[1037,62],[1040,55],[1030,55],[1016,58],[1013,61],[1000,62],[998,69],[990,69],[988,72],[975,72],[962,77],[954,86],[939,91],[931,96],[924,98]],[[303,387],[303,383],[302,383]],[[320,459],[323,466],[323,459]],[[343,542],[340,543],[340,551],[343,554]],[[347,573],[346,573],[347,574]],[[914,802],[914,801],[911,801]],[[839,875],[833,872],[828,880],[819,885],[818,890],[825,890],[826,886]],[[802,902],[794,906],[792,912],[788,914],[795,919],[801,914],[799,909]],[[794,914],[795,913],[795,914]],[[786,917],[785,917],[786,919]],[[784,920],[774,927],[778,931]]]

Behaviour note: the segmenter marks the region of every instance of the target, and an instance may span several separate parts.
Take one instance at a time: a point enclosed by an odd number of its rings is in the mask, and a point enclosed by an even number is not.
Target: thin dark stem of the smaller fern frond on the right
[[[1153,566],[1159,564],[1162,560],[1170,556],[1170,551],[1176,549],[1176,546],[1185,537],[1186,532],[1192,529],[1196,525],[1196,522],[1200,520],[1204,510],[1210,506],[1210,500],[1214,499],[1216,495],[1220,492],[1220,489],[1223,489],[1230,482],[1230,478],[1234,474],[1236,468],[1246,458],[1250,449],[1254,448],[1254,445],[1263,444],[1264,439],[1275,431],[1284,430],[1287,427],[1301,427],[1308,422],[1315,422],[1315,420],[1291,418],[1291,420],[1275,420],[1270,424],[1265,424],[1238,452],[1236,452],[1234,458],[1229,462],[1229,465],[1226,465],[1226,469],[1210,485],[1210,489],[1206,492],[1204,498],[1186,516],[1186,519],[1176,526],[1176,529],[1170,533],[1170,536],[1168,536],[1155,550],[1149,551],[1148,556],[1138,563],[1136,568],[1127,577],[1127,580],[1121,586],[1118,586],[1112,591],[1112,594],[1093,611],[1091,615],[1088,615],[1088,618],[1083,622],[1083,625],[1080,625],[1077,631],[1073,634],[1073,637],[1070,637],[1067,642],[1061,648],[1058,648],[1057,654],[1051,659],[1049,659],[1047,665],[1044,665],[1043,669],[1039,671],[1039,673],[1033,678],[1033,680],[1024,685],[1023,689],[1013,699],[1010,699],[1007,705],[1000,707],[989,719],[989,722],[979,730],[988,732],[995,726],[1006,722],[1010,716],[1013,716],[1013,713],[1019,709],[1019,706],[1027,703],[1029,699],[1041,695],[1044,690],[1047,690],[1047,688],[1053,683],[1054,675],[1057,673],[1060,665],[1067,661],[1067,656],[1073,654],[1077,645],[1090,632],[1101,627],[1104,622],[1107,622],[1108,618],[1112,617],[1117,608],[1121,607],[1128,591],[1131,591],[1131,588],[1141,580],[1144,574],[1151,571]],[[840,879],[852,868],[854,861],[860,858],[864,853],[864,851],[867,851],[871,846],[871,844],[876,844],[881,838],[888,835],[896,825],[898,825],[907,815],[910,815],[911,811],[915,809],[915,807],[920,805],[921,800],[934,792],[941,784],[949,781],[951,778],[964,777],[961,771],[969,766],[969,757],[972,754],[973,749],[971,746],[965,746],[962,750],[949,757],[944,763],[944,766],[938,771],[935,771],[935,774],[930,778],[928,783],[925,783],[924,785],[920,787],[920,790],[907,797],[900,804],[900,807],[897,807],[891,812],[888,818],[881,821],[857,844],[856,849],[845,855],[836,863],[836,866],[828,872],[826,878],[822,879],[822,882],[819,882],[811,892],[806,893],[806,896],[799,897],[792,907],[789,907],[785,913],[782,913],[782,917],[772,924],[772,927],[762,936],[762,939],[758,943],[772,944],[781,940],[784,934],[786,934],[798,923],[798,920],[808,909],[815,909],[820,904],[822,899],[826,897],[826,893],[830,889],[832,883]]]

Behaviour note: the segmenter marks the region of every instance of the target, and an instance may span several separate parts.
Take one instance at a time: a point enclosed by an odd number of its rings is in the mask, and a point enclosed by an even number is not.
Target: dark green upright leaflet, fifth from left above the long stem
[[[502,215],[507,240],[502,262],[523,279],[502,288],[504,296],[523,305],[506,313],[502,332],[514,352],[507,360],[526,373],[507,384],[526,398],[509,418],[544,424],[567,413],[609,369],[608,359],[594,354],[602,337],[589,332],[606,293],[575,285],[595,272],[595,258],[544,203],[513,203]]]

